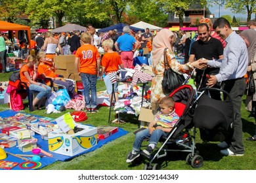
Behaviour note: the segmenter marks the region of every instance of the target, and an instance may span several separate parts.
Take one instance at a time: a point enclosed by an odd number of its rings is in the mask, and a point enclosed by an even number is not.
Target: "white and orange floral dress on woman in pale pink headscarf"
[[[168,63],[175,71],[175,73],[179,73],[180,75],[182,73],[187,73],[190,67],[188,65],[182,65],[175,59],[175,54],[170,49],[167,49],[167,60]],[[153,72],[155,74],[152,85],[151,85],[151,103],[158,103],[161,98],[165,97],[165,94],[163,93],[163,88],[161,86],[161,82],[163,80],[163,72],[165,71],[164,67],[164,55],[161,56],[161,60],[158,62],[157,65],[153,65]]]

